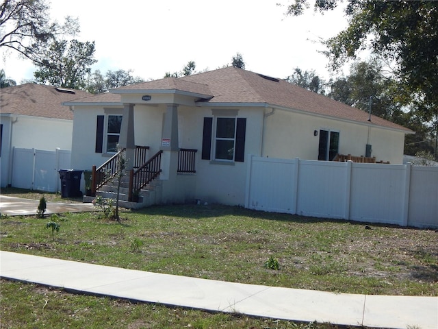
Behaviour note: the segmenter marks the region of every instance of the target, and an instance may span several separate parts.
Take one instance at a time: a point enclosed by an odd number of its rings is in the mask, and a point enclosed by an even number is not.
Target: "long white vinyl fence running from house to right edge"
[[[245,207],[438,228],[438,167],[250,156]]]

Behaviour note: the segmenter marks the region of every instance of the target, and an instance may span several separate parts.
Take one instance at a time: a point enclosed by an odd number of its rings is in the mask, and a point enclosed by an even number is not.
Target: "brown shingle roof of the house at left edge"
[[[21,84],[2,88],[1,114],[73,120],[73,112],[62,103],[86,96],[90,96],[90,93],[42,84]]]

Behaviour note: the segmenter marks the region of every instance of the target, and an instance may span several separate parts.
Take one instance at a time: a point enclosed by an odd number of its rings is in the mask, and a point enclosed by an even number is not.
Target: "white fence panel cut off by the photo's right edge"
[[[438,167],[412,167],[408,225],[438,227]]]

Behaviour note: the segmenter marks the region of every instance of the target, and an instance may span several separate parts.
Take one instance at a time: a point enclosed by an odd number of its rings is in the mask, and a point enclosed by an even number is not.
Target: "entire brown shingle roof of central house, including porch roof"
[[[186,93],[198,97],[197,103],[205,106],[277,107],[412,133],[412,130],[406,127],[374,115],[371,116],[371,121],[368,121],[368,112],[313,93],[285,80],[237,69],[233,66],[186,77],[168,77],[142,82],[110,90],[110,93],[97,95],[96,98],[89,97],[77,102],[69,102],[66,105],[91,103],[92,99],[101,102],[120,102],[117,94],[129,93]],[[119,98],[114,98],[114,96]]]

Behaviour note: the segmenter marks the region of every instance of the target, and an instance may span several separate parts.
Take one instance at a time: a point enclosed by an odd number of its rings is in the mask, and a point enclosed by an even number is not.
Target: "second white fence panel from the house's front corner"
[[[300,160],[298,169],[299,215],[345,217],[347,162]]]

